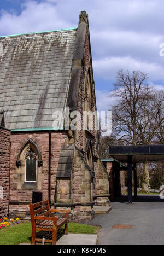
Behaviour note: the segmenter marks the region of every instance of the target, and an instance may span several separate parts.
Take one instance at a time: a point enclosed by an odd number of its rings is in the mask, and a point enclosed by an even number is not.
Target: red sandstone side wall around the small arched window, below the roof
[[[66,133],[52,132],[51,134],[51,202],[54,202],[56,189],[56,172],[58,160],[60,158],[61,145],[65,143]],[[28,210],[28,203],[32,202],[32,191],[35,189],[17,189],[17,179],[15,179],[16,160],[21,147],[32,139],[40,149],[43,160],[42,174],[44,175],[42,189],[43,200],[48,199],[48,165],[49,165],[49,131],[34,133],[12,133],[11,134],[11,162],[10,162],[10,207],[9,211]],[[17,202],[17,203],[15,203]],[[24,202],[21,204],[21,202]]]

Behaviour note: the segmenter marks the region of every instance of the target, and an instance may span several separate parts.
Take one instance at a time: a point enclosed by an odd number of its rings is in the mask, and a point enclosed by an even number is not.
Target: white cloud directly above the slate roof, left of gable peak
[[[21,15],[2,12],[0,33],[17,34],[71,27],[71,22],[61,19],[55,5],[47,2],[28,1],[22,5]]]

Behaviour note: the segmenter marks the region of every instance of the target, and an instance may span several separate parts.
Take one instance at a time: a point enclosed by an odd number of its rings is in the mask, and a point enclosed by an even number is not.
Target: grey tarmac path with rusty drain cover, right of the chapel
[[[126,199],[112,202],[112,211],[91,222],[102,226],[98,245],[164,245],[164,200],[159,196],[138,196],[132,205]],[[115,224],[131,229],[112,229]]]

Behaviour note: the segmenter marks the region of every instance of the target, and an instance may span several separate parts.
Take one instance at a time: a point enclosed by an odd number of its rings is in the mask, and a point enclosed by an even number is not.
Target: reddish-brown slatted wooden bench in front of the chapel
[[[68,235],[68,213],[65,210],[50,209],[49,200],[30,203],[31,225],[32,225],[32,240],[31,244],[35,245],[36,242],[42,242],[42,239],[36,238],[36,231],[51,231],[52,239],[45,239],[45,242],[56,245],[57,230],[65,224],[65,235]],[[51,216],[51,213],[66,213],[65,218],[57,218]]]

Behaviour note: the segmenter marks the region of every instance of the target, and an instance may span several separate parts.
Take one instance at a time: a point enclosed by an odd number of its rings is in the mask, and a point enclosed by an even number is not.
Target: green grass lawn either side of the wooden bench
[[[74,234],[97,234],[99,227],[79,223],[69,223],[68,232]],[[23,223],[1,228],[0,245],[19,245],[31,242],[31,223]]]

